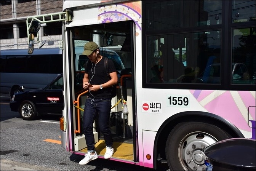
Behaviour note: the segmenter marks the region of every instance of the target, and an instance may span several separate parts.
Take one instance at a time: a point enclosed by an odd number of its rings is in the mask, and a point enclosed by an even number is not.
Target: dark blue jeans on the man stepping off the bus
[[[93,123],[97,114],[99,114],[99,129],[104,135],[106,146],[112,147],[113,139],[109,129],[110,108],[111,99],[86,99],[85,110],[83,112],[83,132],[85,134],[88,152],[94,152],[95,141],[93,135]]]

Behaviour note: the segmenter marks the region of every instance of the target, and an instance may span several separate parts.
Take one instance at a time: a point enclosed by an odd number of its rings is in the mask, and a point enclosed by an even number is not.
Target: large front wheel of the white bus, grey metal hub
[[[231,136],[218,126],[203,122],[177,124],[166,141],[170,170],[206,170],[204,149]]]

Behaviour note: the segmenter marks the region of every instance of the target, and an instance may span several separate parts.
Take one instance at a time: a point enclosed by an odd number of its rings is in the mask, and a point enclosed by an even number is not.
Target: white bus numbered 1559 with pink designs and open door
[[[36,24],[63,22],[60,128],[67,152],[87,153],[88,91],[75,99],[74,78],[75,47],[88,41],[114,50],[125,66],[112,98],[109,160],[207,170],[209,145],[255,140],[255,1],[65,1],[55,15],[27,18],[27,30],[29,39]],[[104,158],[97,119],[94,139]]]

